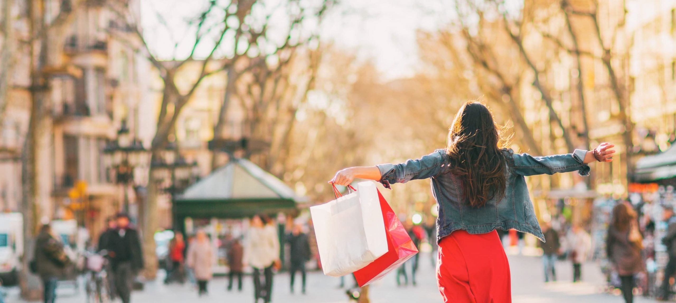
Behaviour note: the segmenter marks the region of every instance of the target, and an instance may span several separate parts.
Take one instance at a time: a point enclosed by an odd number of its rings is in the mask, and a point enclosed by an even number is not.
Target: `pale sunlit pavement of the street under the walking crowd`
[[[396,302],[441,302],[437,292],[434,271],[429,261],[429,255],[421,257],[418,273],[418,285],[413,287],[397,287],[395,277],[391,275],[372,286],[370,297],[373,303]],[[569,262],[560,262],[557,267],[558,278],[556,283],[545,284],[542,281],[542,264],[538,257],[510,256],[512,269],[512,289],[515,303],[553,303],[553,302],[623,302],[619,296],[600,294],[604,284],[598,266],[585,264],[583,267],[583,283],[571,283],[572,266]],[[298,279],[299,280],[299,279]],[[299,281],[297,280],[297,283]],[[273,302],[277,303],[339,303],[347,302],[345,289],[339,289],[339,278],[326,277],[321,273],[311,273],[308,277],[308,294],[290,294],[289,275],[276,275],[274,278]],[[145,291],[135,292],[133,302],[178,303],[248,303],[252,298],[253,285],[249,277],[245,278],[243,292],[226,292],[226,279],[218,277],[209,285],[209,296],[197,300],[197,293],[187,285],[165,286],[162,283],[149,283]],[[299,285],[297,285],[299,287]],[[299,290],[299,289],[298,289]],[[21,302],[18,300],[16,289],[11,289],[7,303]],[[74,295],[73,289],[61,287],[57,303],[83,303],[82,294]],[[655,302],[645,298],[636,298],[634,302]]]

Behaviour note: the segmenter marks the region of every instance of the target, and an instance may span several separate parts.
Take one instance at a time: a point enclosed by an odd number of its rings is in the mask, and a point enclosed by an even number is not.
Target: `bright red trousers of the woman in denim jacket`
[[[437,284],[445,303],[510,303],[509,262],[496,231],[454,231],[439,243]]]

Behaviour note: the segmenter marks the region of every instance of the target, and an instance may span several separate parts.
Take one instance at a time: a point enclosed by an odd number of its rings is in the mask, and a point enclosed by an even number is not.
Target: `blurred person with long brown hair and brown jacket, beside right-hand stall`
[[[612,220],[606,237],[606,254],[620,276],[625,303],[633,302],[634,275],[643,271],[641,245],[632,239],[637,232],[636,212],[627,202],[612,209]]]

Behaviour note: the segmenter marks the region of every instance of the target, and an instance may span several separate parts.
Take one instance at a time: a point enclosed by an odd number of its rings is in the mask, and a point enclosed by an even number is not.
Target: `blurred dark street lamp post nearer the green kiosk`
[[[174,142],[166,145],[160,154],[160,160],[151,163],[151,166],[153,166],[154,181],[164,183],[164,186],[159,187],[160,191],[171,197],[172,228],[177,231],[180,229],[180,225],[174,199],[176,195],[183,193],[191,183],[197,181],[199,166],[197,166],[197,161],[187,162],[178,153],[178,146]],[[169,181],[169,183],[167,184],[166,181]]]

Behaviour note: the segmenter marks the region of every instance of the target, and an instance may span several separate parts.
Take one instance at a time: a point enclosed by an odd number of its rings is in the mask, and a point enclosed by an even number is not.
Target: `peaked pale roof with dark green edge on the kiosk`
[[[305,201],[270,172],[249,160],[233,158],[185,189],[174,200],[174,207],[176,216],[184,218],[244,218],[294,210]]]

